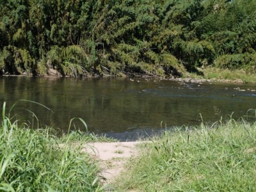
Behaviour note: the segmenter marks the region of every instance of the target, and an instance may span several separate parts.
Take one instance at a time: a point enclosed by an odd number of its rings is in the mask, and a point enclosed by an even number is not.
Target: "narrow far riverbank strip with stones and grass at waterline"
[[[130,79],[168,79],[170,81],[180,81],[180,82],[191,82],[191,83],[204,83],[204,82],[223,82],[223,83],[256,83],[256,75],[253,73],[249,73],[244,71],[243,69],[239,70],[229,70],[229,69],[221,69],[215,67],[207,67],[207,68],[198,68],[197,72],[187,72],[183,76],[149,76],[145,74],[123,74],[124,78]],[[97,78],[97,77],[116,77],[109,76],[108,74],[100,76],[99,74],[91,74],[88,76],[81,77],[71,77],[71,76],[61,76],[56,70],[51,69],[51,72],[47,73],[47,75],[38,75],[33,76],[31,73],[24,73],[21,75],[10,75],[4,74],[2,76],[14,76],[14,77],[67,77],[67,78],[78,78],[78,79],[87,79],[87,78]]]

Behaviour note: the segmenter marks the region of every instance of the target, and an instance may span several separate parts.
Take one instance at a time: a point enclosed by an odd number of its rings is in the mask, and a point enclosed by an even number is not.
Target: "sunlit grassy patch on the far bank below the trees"
[[[226,81],[241,80],[244,83],[256,83],[256,76],[253,72],[246,72],[245,70],[229,70],[223,68],[207,67],[200,70],[204,76],[198,76],[191,73],[190,76],[195,79],[217,79]]]

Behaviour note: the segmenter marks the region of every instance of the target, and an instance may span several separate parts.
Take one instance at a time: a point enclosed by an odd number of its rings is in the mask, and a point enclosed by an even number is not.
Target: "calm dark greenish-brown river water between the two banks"
[[[248,109],[256,109],[255,89],[256,84],[156,79],[0,77],[0,104],[2,108],[6,101],[8,111],[17,100],[32,100],[54,112],[18,102],[11,116],[30,127],[49,125],[65,132],[70,120],[80,117],[90,132],[135,140],[165,128],[200,124],[200,114],[205,122],[228,118],[233,112],[234,118],[244,116]],[[84,130],[79,123],[76,129]]]

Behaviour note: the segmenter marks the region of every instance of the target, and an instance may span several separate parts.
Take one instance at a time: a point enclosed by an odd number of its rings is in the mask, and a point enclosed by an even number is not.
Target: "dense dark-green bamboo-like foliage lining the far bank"
[[[255,72],[254,0],[1,0],[0,73]]]

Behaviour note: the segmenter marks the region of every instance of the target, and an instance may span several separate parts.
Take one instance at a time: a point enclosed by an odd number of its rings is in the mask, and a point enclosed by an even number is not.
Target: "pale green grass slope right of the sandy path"
[[[256,191],[256,123],[202,124],[152,141],[116,191]]]

